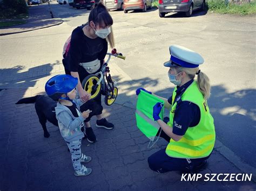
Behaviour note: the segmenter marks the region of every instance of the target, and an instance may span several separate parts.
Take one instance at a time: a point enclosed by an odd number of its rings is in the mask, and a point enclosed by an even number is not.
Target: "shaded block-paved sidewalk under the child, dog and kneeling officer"
[[[83,140],[82,151],[92,157],[86,166],[93,171],[89,176],[76,177],[58,128],[48,123],[50,137],[44,138],[34,104],[15,105],[20,98],[38,93],[37,88],[0,91],[0,190],[256,189],[253,181],[181,181],[178,172],[151,171],[147,158],[167,143],[159,139],[148,149],[149,139],[136,126],[135,109],[116,103],[104,106],[104,115],[115,129],[96,128],[95,118],[92,120],[98,142]],[[216,149],[208,162],[201,173],[242,173]]]

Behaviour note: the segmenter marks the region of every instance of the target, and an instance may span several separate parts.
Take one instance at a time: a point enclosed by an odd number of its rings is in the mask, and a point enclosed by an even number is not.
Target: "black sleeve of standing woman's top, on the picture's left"
[[[82,58],[81,40],[78,32],[77,29],[72,32],[69,53],[66,56],[66,65],[70,72],[78,72],[78,66]]]

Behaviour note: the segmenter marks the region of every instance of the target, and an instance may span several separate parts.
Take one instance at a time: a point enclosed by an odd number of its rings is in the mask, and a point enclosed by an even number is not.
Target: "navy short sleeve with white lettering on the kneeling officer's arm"
[[[177,104],[174,113],[172,132],[176,135],[183,136],[188,127],[193,128],[199,121],[200,109],[198,105],[188,101],[180,102]]]

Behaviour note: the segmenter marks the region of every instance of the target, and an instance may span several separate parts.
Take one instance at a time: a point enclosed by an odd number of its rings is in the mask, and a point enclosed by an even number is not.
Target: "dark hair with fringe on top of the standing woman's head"
[[[106,7],[101,3],[96,3],[94,8],[91,10],[89,15],[89,23],[95,23],[95,25],[99,26],[110,26],[113,24],[113,19],[110,16],[109,11],[107,11]]]

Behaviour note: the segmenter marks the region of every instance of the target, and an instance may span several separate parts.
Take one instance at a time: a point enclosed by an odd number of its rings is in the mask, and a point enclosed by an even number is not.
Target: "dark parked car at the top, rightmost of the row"
[[[205,9],[205,0],[159,0],[159,17],[164,17],[169,12],[184,12],[190,17],[193,11]]]

